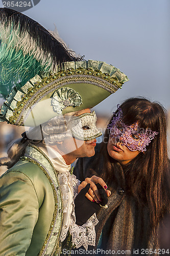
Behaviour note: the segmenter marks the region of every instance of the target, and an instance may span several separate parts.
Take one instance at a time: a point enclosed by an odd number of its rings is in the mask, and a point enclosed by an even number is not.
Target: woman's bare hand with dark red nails
[[[88,190],[88,193],[86,194],[86,198],[90,200],[91,202],[100,203],[102,201],[102,198],[99,193],[99,189],[96,187],[96,183],[99,183],[104,189],[107,194],[107,197],[110,197],[111,192],[110,190],[107,190],[107,185],[104,182],[104,180],[100,177],[97,177],[93,175],[91,178],[86,178],[80,185],[79,185],[79,192],[84,188],[88,183],[90,183],[90,188]]]

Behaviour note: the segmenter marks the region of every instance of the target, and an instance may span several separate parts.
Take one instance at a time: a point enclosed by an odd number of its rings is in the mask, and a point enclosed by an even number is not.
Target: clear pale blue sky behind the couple
[[[23,13],[46,29],[55,24],[69,48],[86,60],[105,61],[128,76],[122,90],[94,108],[111,114],[134,96],[170,109],[169,7],[169,0],[41,0]]]

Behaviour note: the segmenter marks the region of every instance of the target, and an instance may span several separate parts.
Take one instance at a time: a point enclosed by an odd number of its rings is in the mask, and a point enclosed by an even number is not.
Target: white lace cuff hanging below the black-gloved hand
[[[74,222],[73,219],[72,222]],[[95,225],[98,224],[98,222],[96,215],[93,214],[82,226],[72,223],[69,227],[69,232],[72,236],[72,244],[76,245],[76,248],[84,246],[86,250],[88,245],[95,246]]]

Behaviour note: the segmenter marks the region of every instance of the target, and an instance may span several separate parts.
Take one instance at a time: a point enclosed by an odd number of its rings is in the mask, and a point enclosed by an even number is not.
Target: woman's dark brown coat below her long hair
[[[98,151],[97,147],[96,154]],[[90,169],[96,154],[91,158],[79,158],[74,169],[79,180],[83,181],[93,174],[100,176],[100,170]],[[102,233],[102,249],[115,252],[120,250],[120,255],[159,255],[158,238],[156,242],[153,240],[149,210],[139,206],[134,197],[127,193],[123,169],[119,163],[117,165],[116,189],[108,199],[108,208],[101,208],[97,215],[99,224],[96,225],[96,245],[99,248]]]

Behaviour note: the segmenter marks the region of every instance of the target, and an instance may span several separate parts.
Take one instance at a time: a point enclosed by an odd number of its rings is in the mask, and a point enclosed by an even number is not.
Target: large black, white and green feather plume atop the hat
[[[20,88],[40,72],[55,72],[58,64],[77,58],[35,20],[0,8],[0,94]]]

